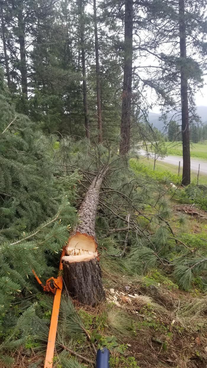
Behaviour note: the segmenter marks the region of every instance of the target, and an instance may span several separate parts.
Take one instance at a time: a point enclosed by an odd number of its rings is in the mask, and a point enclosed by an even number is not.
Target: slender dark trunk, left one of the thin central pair
[[[85,24],[84,24],[84,6],[81,0],[80,3],[80,33],[81,33],[81,58],[82,58],[82,76],[83,76],[83,106],[85,116],[85,134],[90,138],[89,132],[89,115],[88,115],[88,100],[87,100],[87,84],[86,84],[86,58],[85,58]]]

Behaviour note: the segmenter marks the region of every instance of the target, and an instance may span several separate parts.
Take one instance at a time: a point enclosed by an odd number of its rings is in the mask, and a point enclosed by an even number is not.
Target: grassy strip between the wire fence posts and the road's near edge
[[[153,167],[154,167],[154,160],[153,159],[149,159],[149,160],[147,160],[147,158],[140,159],[140,163],[144,163],[146,166],[149,166],[151,169],[153,169]],[[168,170],[172,174],[178,174],[178,166],[177,165],[171,165],[169,163],[162,162],[162,161],[156,161],[155,169],[158,170],[158,171]],[[181,167],[180,175],[182,177],[182,167]],[[191,170],[191,181],[195,180],[195,178],[197,180],[197,172]],[[201,173],[199,174],[199,184],[207,184],[207,175],[201,174]]]

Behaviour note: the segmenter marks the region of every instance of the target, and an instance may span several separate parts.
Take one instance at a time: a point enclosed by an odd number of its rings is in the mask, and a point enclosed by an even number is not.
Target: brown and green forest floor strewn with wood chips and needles
[[[175,220],[178,206],[172,202],[171,207],[172,220]],[[207,239],[204,215],[203,211],[197,218],[188,215],[184,227],[175,221],[171,225],[176,234],[182,234],[185,242],[194,247],[198,244],[197,236]],[[207,241],[203,244],[207,251]],[[131,276],[118,266],[117,260],[107,256],[102,257],[101,268],[106,302],[97,308],[85,307],[75,302],[74,309],[96,348],[107,346],[110,349],[111,368],[207,367],[207,293],[201,289],[198,280],[187,292],[178,290],[174,280],[166,272],[157,269],[150,270],[143,277]],[[49,314],[51,306],[48,298],[45,313]],[[65,298],[68,296],[63,294],[63,301]],[[64,304],[62,309],[67,317]],[[60,321],[59,335],[62,333],[61,323]],[[70,338],[75,351],[95,362],[95,354],[89,341],[83,341],[81,334],[76,334],[75,337],[71,335]],[[68,344],[72,343],[68,340]],[[44,342],[43,351],[45,347]],[[58,351],[57,345],[56,349]],[[42,368],[43,351],[40,352],[39,347],[32,347],[32,357],[16,352],[16,364],[13,368]],[[54,368],[80,367],[77,364],[64,365],[64,361],[58,360],[57,351]],[[41,358],[42,363],[35,365]],[[79,362],[82,363],[81,360]],[[92,367],[92,364],[84,362],[84,366]]]

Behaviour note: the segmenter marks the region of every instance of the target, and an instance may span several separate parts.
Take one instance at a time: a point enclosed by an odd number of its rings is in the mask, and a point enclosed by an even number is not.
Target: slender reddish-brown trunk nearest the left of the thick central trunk
[[[101,120],[101,94],[100,94],[100,67],[99,67],[99,39],[97,30],[96,0],[93,0],[94,32],[95,32],[95,53],[96,53],[96,95],[98,112],[98,142],[102,139],[102,120]]]

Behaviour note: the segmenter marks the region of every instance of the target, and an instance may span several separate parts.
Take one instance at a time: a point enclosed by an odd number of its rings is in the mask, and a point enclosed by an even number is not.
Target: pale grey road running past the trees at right
[[[146,151],[144,149],[139,149],[139,154],[142,156],[146,156]],[[150,154],[150,158],[154,158],[153,154]],[[206,154],[207,158],[207,154]],[[183,159],[179,156],[166,156],[164,159],[157,159],[157,161],[163,161],[166,163],[170,163],[173,165],[179,165],[179,161],[181,161],[181,167],[183,166]],[[207,174],[207,162],[202,161],[202,159],[191,159],[190,160],[190,167],[193,171],[198,171],[200,163],[200,173]]]

